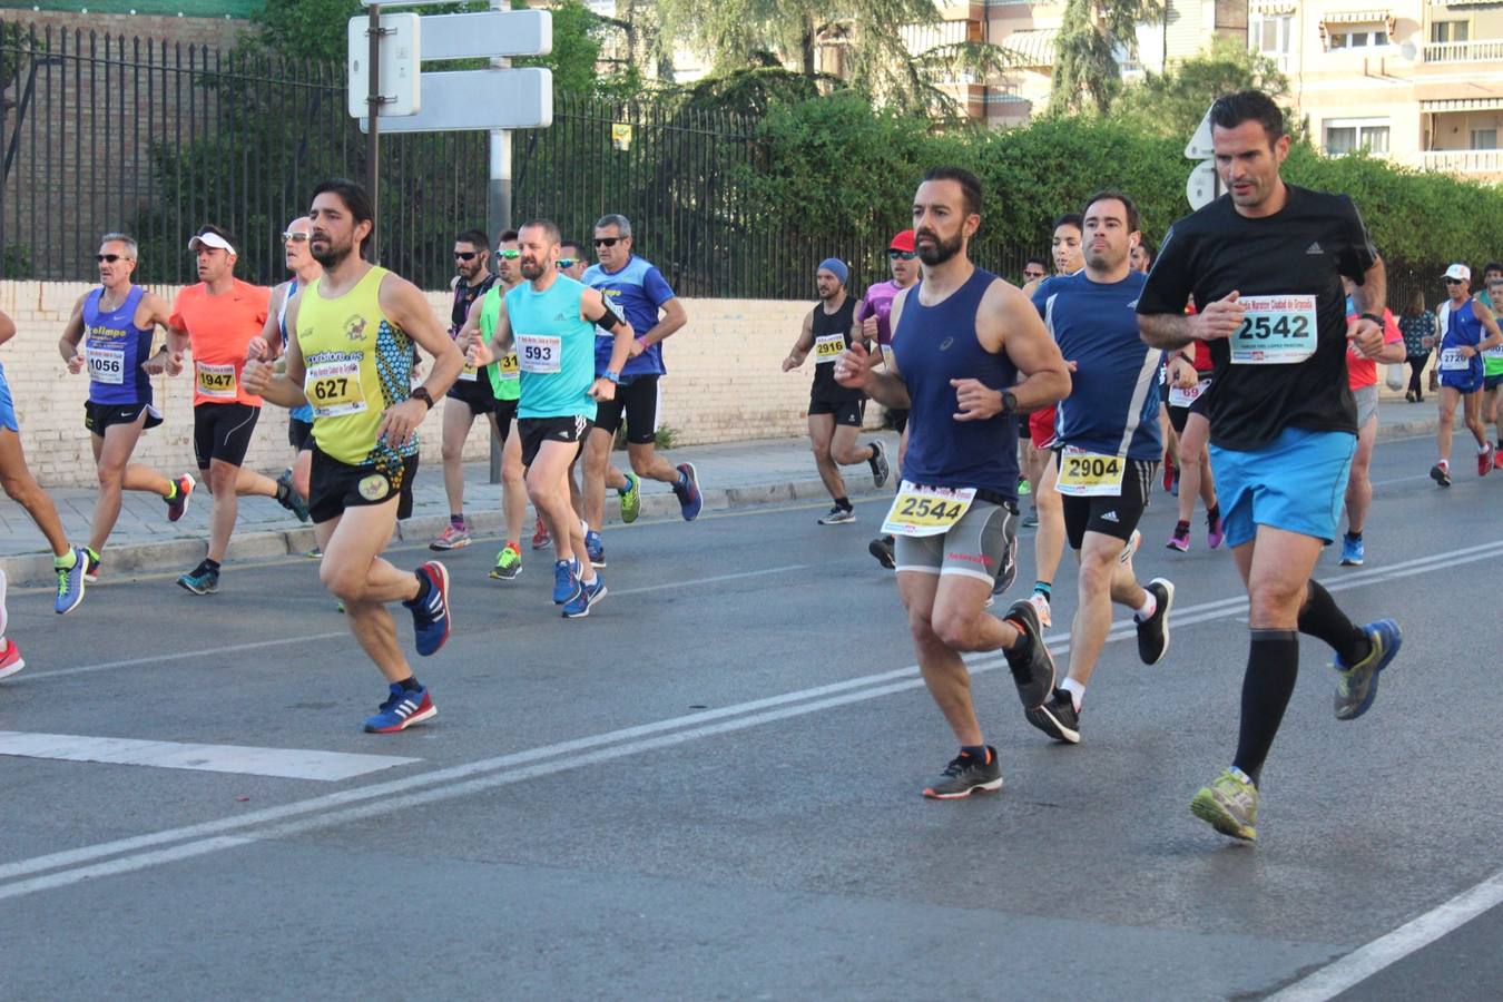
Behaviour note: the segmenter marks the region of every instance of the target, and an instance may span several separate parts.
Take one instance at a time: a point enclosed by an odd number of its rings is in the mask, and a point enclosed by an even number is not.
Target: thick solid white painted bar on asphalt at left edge
[[[60,762],[107,762],[113,765],[153,766],[158,769],[239,772],[246,775],[271,775],[283,780],[322,780],[325,783],[353,780],[367,772],[422,762],[422,759],[350,754],[344,751],[200,745],[176,741],[135,741],[132,738],[38,735],[18,730],[0,730],[0,756],[56,759]]]

